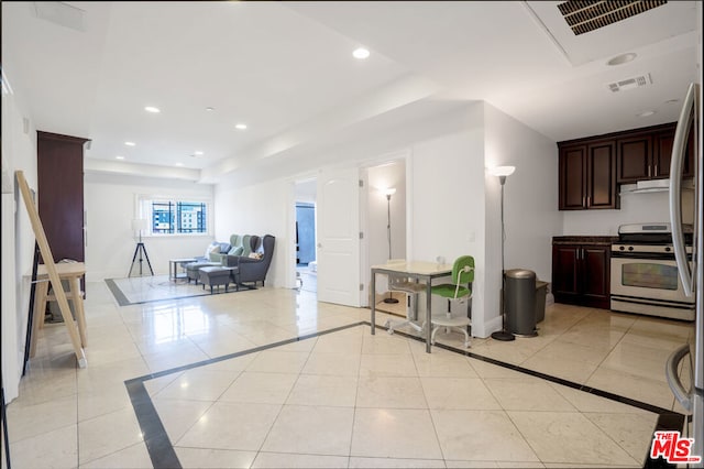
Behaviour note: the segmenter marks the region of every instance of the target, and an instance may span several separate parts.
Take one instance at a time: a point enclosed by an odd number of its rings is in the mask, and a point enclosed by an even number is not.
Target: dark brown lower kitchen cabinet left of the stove
[[[552,293],[554,301],[556,303],[608,309],[610,306],[612,241],[610,239],[605,242],[579,243],[574,241],[578,240],[571,239],[566,242],[553,240]]]

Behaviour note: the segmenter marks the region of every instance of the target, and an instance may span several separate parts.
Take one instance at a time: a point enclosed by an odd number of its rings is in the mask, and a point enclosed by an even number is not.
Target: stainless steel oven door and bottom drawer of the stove
[[[612,255],[612,309],[694,320],[694,298],[682,287],[674,259]]]

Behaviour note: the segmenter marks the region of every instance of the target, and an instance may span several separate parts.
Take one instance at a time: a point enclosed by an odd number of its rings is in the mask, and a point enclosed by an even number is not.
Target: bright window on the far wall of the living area
[[[208,234],[210,203],[140,197],[139,212],[148,220],[147,234]]]

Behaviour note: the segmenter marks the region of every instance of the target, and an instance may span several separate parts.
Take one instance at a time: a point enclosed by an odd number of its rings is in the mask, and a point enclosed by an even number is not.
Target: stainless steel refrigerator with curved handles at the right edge
[[[688,295],[696,297],[695,339],[694,343],[684,343],[675,350],[666,367],[670,389],[682,406],[692,413],[689,438],[693,438],[691,455],[704,458],[704,229],[702,226],[702,207],[704,176],[702,164],[702,89],[698,84],[691,84],[684,106],[680,113],[678,128],[672,145],[670,165],[670,221],[672,223],[672,243],[680,280]],[[691,163],[694,164],[694,203],[693,226],[694,239],[692,255],[688,259],[682,229],[682,166],[690,134],[693,133],[694,145]],[[689,360],[689,362],[688,362]],[[682,363],[682,364],[681,364]],[[703,462],[689,463],[690,467],[703,467]]]

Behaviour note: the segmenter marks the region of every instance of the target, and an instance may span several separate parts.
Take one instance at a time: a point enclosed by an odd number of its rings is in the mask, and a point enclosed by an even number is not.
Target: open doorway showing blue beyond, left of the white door
[[[316,179],[296,183],[296,287],[317,293]]]

